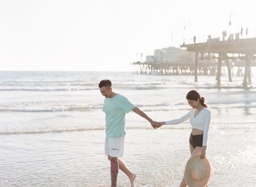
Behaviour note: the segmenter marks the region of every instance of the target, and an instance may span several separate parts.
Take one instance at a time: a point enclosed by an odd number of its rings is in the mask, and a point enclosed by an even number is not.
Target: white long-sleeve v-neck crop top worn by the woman
[[[208,138],[208,129],[209,129],[210,120],[211,120],[211,112],[206,107],[204,107],[195,117],[195,110],[196,109],[192,108],[186,115],[182,116],[180,119],[173,119],[170,121],[166,121],[165,124],[176,125],[190,119],[189,121],[190,121],[190,124],[192,125],[192,129],[199,129],[204,131],[203,145],[206,146],[207,138]]]

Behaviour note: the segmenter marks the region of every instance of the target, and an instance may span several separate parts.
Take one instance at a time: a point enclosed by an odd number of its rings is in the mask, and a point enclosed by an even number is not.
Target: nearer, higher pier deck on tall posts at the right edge
[[[209,38],[208,41],[204,43],[182,44],[180,47],[196,53],[195,69],[198,68],[199,53],[207,53],[208,57],[206,58],[208,59],[215,58],[218,62],[216,66],[216,80],[218,85],[220,85],[222,66],[227,67],[230,82],[232,82],[232,68],[237,66],[237,74],[241,73],[244,75],[243,86],[247,87],[248,83],[251,84],[251,67],[256,66],[256,38],[238,38],[236,40],[229,39],[223,41],[220,41],[219,38]],[[211,54],[215,55],[211,56]],[[235,64],[233,62],[230,64],[229,62],[232,62],[232,60],[238,63]],[[197,75],[198,72],[195,71],[195,82],[197,82]]]

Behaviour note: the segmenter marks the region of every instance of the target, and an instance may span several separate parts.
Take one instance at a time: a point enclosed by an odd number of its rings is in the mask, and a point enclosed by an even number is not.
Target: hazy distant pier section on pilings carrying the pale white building
[[[200,54],[201,55],[201,54]],[[199,55],[199,56],[200,56]],[[204,57],[207,54],[203,54]],[[146,56],[146,62],[134,62],[134,74],[192,75],[196,53],[180,48],[162,48],[154,50],[153,56]],[[209,68],[208,68],[209,66]],[[215,75],[217,61],[215,59],[199,60],[198,73]],[[208,69],[209,70],[208,70]]]

